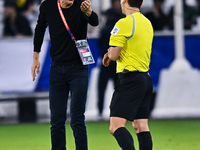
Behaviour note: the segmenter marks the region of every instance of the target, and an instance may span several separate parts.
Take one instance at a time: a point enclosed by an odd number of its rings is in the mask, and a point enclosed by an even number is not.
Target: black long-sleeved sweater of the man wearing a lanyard
[[[63,14],[76,40],[85,39],[88,23],[97,26],[98,16],[92,12],[87,17],[80,9],[82,0],[74,0],[74,4],[63,9]],[[46,27],[49,27],[52,60],[59,65],[81,63],[75,42],[71,39],[58,11],[57,0],[45,0],[40,6],[40,14],[34,35],[34,52],[40,52]]]

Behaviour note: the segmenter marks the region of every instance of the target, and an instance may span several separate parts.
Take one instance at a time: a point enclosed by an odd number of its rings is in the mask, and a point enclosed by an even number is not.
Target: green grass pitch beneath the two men
[[[200,150],[200,119],[150,120],[154,150]],[[109,122],[87,122],[89,150],[120,150],[109,133]],[[137,137],[128,122],[136,150]],[[75,150],[69,123],[66,126],[67,148]],[[0,150],[50,150],[49,124],[0,125]]]

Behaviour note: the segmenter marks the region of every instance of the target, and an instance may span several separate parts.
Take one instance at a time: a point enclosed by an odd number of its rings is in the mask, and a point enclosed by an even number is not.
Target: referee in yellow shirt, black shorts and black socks
[[[110,48],[103,65],[117,62],[118,82],[110,104],[110,132],[123,150],[135,150],[131,134],[125,128],[132,121],[140,150],[152,150],[148,127],[150,99],[153,90],[148,74],[153,28],[140,12],[143,0],[121,0],[122,13],[111,31]]]

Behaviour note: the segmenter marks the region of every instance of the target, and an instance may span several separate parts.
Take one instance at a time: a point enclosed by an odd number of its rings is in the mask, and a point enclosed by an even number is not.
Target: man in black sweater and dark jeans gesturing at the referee
[[[85,126],[85,104],[88,88],[88,66],[83,65],[75,42],[68,33],[58,7],[74,35],[75,40],[86,39],[87,25],[98,25],[98,16],[91,9],[90,0],[45,0],[35,28],[34,59],[32,78],[36,70],[39,73],[39,52],[45,29],[49,26],[52,57],[49,100],[51,112],[52,150],[66,150],[66,109],[70,91],[70,125],[73,130],[76,150],[87,150],[87,132]]]

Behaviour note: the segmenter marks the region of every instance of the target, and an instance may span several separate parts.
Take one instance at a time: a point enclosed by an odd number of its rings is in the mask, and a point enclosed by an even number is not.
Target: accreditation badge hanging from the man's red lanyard
[[[75,41],[75,43],[83,65],[89,65],[95,63],[87,40],[86,39],[77,40]]]

